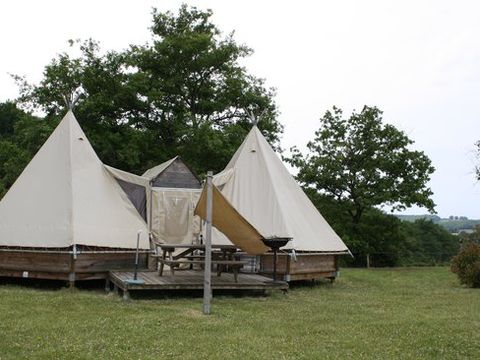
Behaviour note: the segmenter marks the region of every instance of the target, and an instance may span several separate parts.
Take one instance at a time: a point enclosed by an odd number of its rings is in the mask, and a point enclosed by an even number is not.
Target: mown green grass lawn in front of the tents
[[[288,295],[124,302],[0,285],[0,359],[480,359],[480,290],[448,268],[343,269]]]

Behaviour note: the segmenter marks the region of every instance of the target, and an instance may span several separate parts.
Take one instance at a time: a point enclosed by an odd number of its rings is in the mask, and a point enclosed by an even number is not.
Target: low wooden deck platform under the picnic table
[[[140,271],[138,279],[143,284],[132,284],[132,271],[111,271],[109,280],[115,287],[123,290],[125,299],[129,298],[129,291],[135,290],[199,290],[203,289],[203,271],[179,270],[175,275],[165,274],[159,276],[157,271]],[[238,274],[235,282],[231,273],[222,273],[221,276],[212,275],[212,290],[288,290],[286,282],[273,283],[271,278],[257,274]]]

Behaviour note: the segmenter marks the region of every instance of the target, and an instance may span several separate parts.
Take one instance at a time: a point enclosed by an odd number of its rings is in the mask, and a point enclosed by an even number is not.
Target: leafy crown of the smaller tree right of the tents
[[[410,150],[413,141],[383,124],[381,115],[365,106],[345,119],[333,108],[307,144],[310,154],[293,148],[289,159],[299,169],[298,180],[341,202],[354,225],[374,206],[402,210],[419,205],[432,212],[435,207],[427,186],[434,171],[430,159]]]

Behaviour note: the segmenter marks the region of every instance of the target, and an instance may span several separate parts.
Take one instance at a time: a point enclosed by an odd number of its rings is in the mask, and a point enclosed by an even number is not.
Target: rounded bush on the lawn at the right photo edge
[[[451,269],[460,283],[480,288],[480,245],[472,242],[463,247],[453,258]]]

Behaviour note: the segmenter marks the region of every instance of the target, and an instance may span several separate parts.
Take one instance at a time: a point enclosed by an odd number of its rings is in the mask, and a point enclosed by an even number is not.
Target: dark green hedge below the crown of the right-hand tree
[[[448,263],[458,251],[458,237],[431,220],[401,221],[370,208],[354,226],[345,203],[313,188],[304,190],[352,252],[353,258],[342,259],[345,265],[365,266],[367,254],[375,267],[439,265]]]

